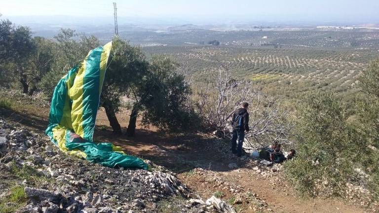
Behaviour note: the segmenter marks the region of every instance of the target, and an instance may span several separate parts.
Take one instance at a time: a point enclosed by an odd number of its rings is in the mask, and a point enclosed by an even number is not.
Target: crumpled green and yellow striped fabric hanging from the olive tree
[[[62,151],[107,167],[148,169],[112,143],[92,141],[112,42],[91,50],[55,87],[46,135]]]

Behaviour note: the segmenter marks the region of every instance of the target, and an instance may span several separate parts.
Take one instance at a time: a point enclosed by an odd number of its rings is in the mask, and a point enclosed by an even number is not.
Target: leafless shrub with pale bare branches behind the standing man
[[[230,70],[231,63],[220,63],[219,69],[214,71],[214,84],[209,83],[206,90],[200,88],[195,92],[195,106],[203,126],[210,131],[230,132],[231,115],[247,102],[251,128],[246,134],[248,146],[263,147],[273,142],[292,144],[293,125],[288,121],[290,111],[279,110],[279,100],[268,97],[250,81],[235,79]],[[214,72],[210,71],[210,76]]]

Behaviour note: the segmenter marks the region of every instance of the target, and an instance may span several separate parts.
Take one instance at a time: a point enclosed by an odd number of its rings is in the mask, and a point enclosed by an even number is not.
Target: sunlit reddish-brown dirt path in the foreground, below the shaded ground
[[[197,170],[192,174],[179,175],[181,180],[194,189],[203,198],[221,194],[222,199],[230,202],[232,199],[242,198],[240,203],[232,206],[245,213],[366,213],[358,206],[346,203],[337,198],[302,199],[296,196],[291,186],[284,180],[280,172],[275,175],[262,176],[249,168],[242,168],[228,172],[214,172]],[[246,195],[253,195],[254,199],[263,202],[260,205]]]

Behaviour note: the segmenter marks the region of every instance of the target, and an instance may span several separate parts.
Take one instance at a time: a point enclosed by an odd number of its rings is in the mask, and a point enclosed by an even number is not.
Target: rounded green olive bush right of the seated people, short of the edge
[[[285,164],[290,181],[302,194],[340,194],[367,153],[364,132],[332,93],[306,93],[297,112],[298,156]]]

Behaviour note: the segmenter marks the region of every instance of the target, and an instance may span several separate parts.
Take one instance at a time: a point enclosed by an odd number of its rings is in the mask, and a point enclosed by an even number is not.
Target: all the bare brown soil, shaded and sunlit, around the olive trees
[[[22,106],[22,107],[21,107]],[[20,105],[15,111],[0,108],[0,116],[5,119],[19,122],[35,131],[44,132],[48,121],[48,106],[33,104]],[[123,110],[117,113],[122,127],[127,127],[130,112]],[[254,173],[254,170],[234,157],[228,157],[228,143],[215,139],[205,133],[167,134],[159,132],[154,127],[145,127],[137,121],[136,136],[114,136],[104,110],[99,110],[96,119],[94,140],[97,142],[112,142],[121,146],[125,152],[149,159],[157,165],[165,166],[189,188],[203,198],[209,198],[216,191],[223,191],[222,187],[214,187],[207,182],[203,175],[191,173],[194,168],[203,168],[225,182],[241,186],[245,192],[257,194],[267,205],[265,208],[254,208],[252,203],[239,204],[243,212],[277,212],[277,213],[364,213],[369,210],[354,206],[346,201],[329,198],[301,198],[284,180],[283,174],[277,172],[275,176],[264,177]],[[125,132],[126,129],[124,128]],[[239,169],[230,169],[228,164],[236,162]],[[272,182],[279,179],[275,187]],[[223,200],[233,194],[224,190]]]

